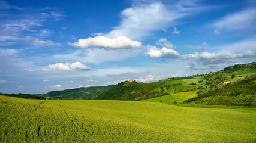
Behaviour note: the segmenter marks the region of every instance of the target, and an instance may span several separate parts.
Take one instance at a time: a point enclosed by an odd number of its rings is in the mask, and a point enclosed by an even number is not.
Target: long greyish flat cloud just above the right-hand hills
[[[195,54],[182,55],[181,57],[183,60],[186,61],[197,62],[200,65],[207,65],[230,63],[237,58],[256,57],[256,52],[249,50],[244,51],[243,54],[233,54],[226,51],[222,51],[219,53],[201,52],[200,54],[195,52]]]

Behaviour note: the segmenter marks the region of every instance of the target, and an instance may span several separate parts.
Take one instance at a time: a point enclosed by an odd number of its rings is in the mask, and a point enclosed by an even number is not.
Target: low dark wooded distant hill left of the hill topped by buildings
[[[112,88],[114,85],[108,86],[92,86],[92,87],[82,87],[74,89],[66,89],[63,91],[51,91],[47,94],[43,94],[43,97],[50,97],[59,100],[86,100],[94,97],[95,95],[101,94],[107,89]]]

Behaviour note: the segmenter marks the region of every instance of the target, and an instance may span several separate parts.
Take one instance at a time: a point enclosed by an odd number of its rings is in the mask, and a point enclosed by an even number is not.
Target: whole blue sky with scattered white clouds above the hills
[[[256,1],[0,0],[0,92],[155,82],[256,61]]]

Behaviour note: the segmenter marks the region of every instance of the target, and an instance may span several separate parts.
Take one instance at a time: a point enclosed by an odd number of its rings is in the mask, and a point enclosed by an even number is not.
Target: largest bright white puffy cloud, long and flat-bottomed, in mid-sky
[[[124,49],[124,48],[138,48],[141,42],[132,41],[125,36],[118,36],[116,38],[108,38],[106,36],[97,36],[94,38],[79,39],[78,42],[68,43],[68,45],[80,48],[105,48],[105,49]]]

